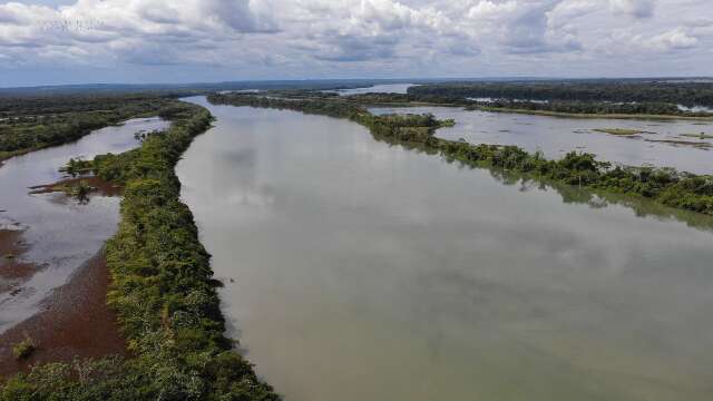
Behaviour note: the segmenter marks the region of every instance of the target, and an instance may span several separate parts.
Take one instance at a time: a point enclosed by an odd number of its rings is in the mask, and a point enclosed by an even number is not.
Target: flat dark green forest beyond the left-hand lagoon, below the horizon
[[[0,97],[0,160],[76,140],[128,118],[156,115],[172,101],[148,95]]]

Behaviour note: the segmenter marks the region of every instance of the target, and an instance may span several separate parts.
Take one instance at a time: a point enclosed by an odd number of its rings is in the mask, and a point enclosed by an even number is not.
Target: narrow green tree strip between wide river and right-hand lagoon
[[[215,104],[284,108],[349,118],[367,126],[377,138],[416,144],[427,151],[439,153],[466,165],[495,167],[579,187],[643,196],[666,206],[713,215],[713,176],[680,173],[672,168],[613,166],[596,160],[592,154],[575,151],[559,160],[549,160],[540,153],[529,154],[517,146],[471,145],[463,140],[440,139],[433,136],[433,131],[442,123],[432,116],[373,116],[364,108],[343,100],[290,100],[245,95],[213,95],[208,99]]]

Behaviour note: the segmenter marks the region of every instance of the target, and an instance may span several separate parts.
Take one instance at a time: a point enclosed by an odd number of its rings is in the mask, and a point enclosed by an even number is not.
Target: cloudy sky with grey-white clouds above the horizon
[[[20,0],[0,86],[710,76],[713,0]]]

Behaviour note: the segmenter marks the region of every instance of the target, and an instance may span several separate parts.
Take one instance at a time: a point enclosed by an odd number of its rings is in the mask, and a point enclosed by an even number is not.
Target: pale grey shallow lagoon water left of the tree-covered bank
[[[118,223],[116,197],[95,196],[79,204],[61,194],[30,194],[29,187],[61,179],[58,168],[70,157],[88,159],[128,150],[138,145],[135,133],[163,129],[167,124],[158,118],[128,120],[76,143],[11,158],[0,167],[0,228],[23,231],[25,252],[19,260],[35,266],[23,274],[0,272],[0,332],[38,312],[40,301],[96,254]]]

